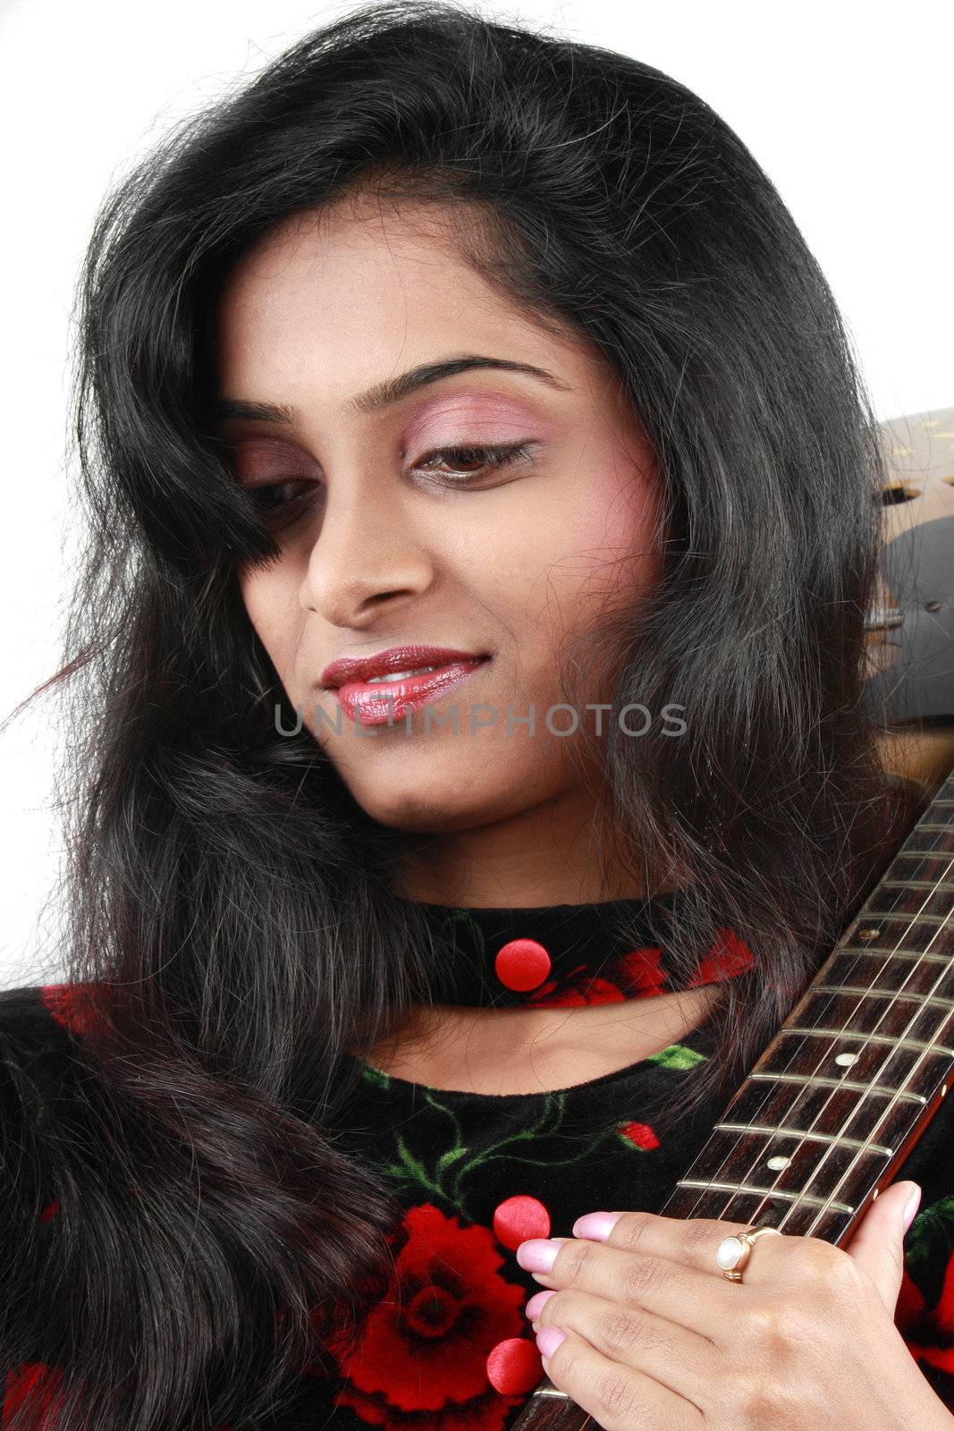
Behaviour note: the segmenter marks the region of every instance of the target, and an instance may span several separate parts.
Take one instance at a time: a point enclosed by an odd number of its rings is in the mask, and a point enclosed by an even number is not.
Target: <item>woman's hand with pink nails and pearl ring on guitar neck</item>
[[[555,1288],[526,1304],[544,1369],[605,1431],[951,1431],[894,1325],[915,1188],[885,1189],[848,1249],[758,1238],[741,1282],[715,1249],[744,1222],[596,1212],[521,1242]]]

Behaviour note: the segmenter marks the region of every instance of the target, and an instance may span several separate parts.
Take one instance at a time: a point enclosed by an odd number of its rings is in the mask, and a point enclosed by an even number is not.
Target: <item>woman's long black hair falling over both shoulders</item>
[[[395,0],[180,123],[104,200],[79,288],[89,542],[47,685],[73,701],[83,1033],[43,1120],[16,1050],[1,1070],[0,1351],[57,1369],[69,1431],[252,1425],[388,1275],[395,1205],[338,1136],[348,1053],[441,997],[446,949],[400,897],[406,841],[277,730],[236,580],[277,547],[215,436],[212,338],[253,242],[370,189],[462,218],[488,282],[611,363],[658,462],[658,585],[564,677],[682,708],[681,738],[608,720],[594,754],[605,847],[649,890],[678,876],[672,957],[725,926],[754,954],[694,1096],[751,1063],[894,839],[861,704],[875,422],[718,114],[635,59]]]

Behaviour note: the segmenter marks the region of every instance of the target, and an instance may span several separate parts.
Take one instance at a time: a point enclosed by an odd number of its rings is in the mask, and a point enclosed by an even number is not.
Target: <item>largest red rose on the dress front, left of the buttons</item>
[[[392,1285],[353,1348],[330,1344],[345,1379],[336,1404],[373,1425],[499,1431],[519,1398],[491,1387],[486,1358],[525,1334],[525,1289],[501,1276],[489,1228],[432,1203],[406,1212],[398,1242]]]

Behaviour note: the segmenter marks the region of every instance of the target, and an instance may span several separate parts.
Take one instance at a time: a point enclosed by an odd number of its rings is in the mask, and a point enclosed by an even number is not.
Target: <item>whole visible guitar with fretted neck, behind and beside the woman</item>
[[[917,419],[901,421],[910,442]],[[890,539],[868,621],[871,695],[885,716],[878,737],[885,770],[920,796],[935,793],[659,1208],[665,1216],[728,1218],[841,1246],[954,1083],[954,731],[891,728],[891,720],[953,714],[950,637],[947,647],[933,633],[925,638],[923,624],[907,647],[892,635],[905,624],[914,631],[921,607],[928,614],[954,607],[950,557],[937,574],[923,564],[920,585],[900,577],[911,570],[905,544],[918,525],[941,527],[935,535],[950,554],[954,479],[921,467],[921,485],[905,479],[898,495],[898,464],[890,465],[892,485],[882,497],[895,512],[885,521]],[[923,497],[925,485],[931,502],[898,518],[897,508]],[[903,558],[892,564],[897,544]],[[927,600],[925,578],[940,581]],[[918,673],[934,678],[887,680],[905,655],[914,660],[915,644]],[[544,1377],[511,1431],[581,1431],[589,1421]]]

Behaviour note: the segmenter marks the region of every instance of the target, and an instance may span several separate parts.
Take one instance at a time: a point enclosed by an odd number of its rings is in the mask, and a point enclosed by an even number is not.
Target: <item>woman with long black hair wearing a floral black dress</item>
[[[611,1431],[953,1425],[944,1116],[742,1288],[747,1224],[657,1215],[904,830],[872,415],[745,146],[363,9],[117,187],[80,326],[3,1425],[489,1431],[544,1369]]]

